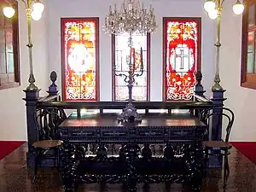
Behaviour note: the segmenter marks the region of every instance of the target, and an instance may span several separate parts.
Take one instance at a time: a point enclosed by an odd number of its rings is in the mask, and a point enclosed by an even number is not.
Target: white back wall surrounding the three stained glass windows
[[[58,73],[57,84],[61,89],[61,17],[100,17],[100,99],[112,100],[112,67],[111,67],[111,41],[102,32],[105,15],[108,7],[117,2],[113,0],[51,0],[49,1],[49,72]],[[202,73],[203,84],[210,90],[213,79],[213,58],[215,28],[214,22],[207,18],[202,6],[203,0],[195,1],[168,1],[143,0],[145,6],[152,3],[159,25],[158,32],[151,36],[151,101],[162,101],[162,17],[201,17],[202,18]],[[119,7],[119,6],[118,6]],[[208,94],[209,95],[209,94]]]

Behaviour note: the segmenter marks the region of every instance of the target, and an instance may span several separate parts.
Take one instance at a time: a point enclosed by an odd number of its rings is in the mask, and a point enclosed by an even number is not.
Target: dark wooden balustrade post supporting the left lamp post
[[[26,97],[23,100],[26,102],[26,129],[27,129],[27,146],[26,162],[28,166],[32,166],[33,150],[32,143],[38,141],[38,131],[36,128],[34,113],[37,110],[37,102],[39,99],[40,90],[23,90]]]

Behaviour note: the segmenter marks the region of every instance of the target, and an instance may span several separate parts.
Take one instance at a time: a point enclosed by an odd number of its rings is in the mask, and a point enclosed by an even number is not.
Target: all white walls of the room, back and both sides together
[[[121,2],[121,1],[116,1]],[[201,17],[202,18],[202,49],[201,65],[203,84],[207,90],[207,96],[212,86],[214,75],[213,44],[216,38],[215,21],[208,19],[203,10],[204,0],[143,0],[145,5],[152,3],[159,30],[151,39],[151,101],[162,100],[162,17]],[[44,18],[32,22],[32,40],[34,44],[34,73],[36,84],[42,89],[41,94],[49,86],[49,73],[55,70],[58,73],[57,84],[61,89],[61,17],[100,17],[100,92],[101,101],[111,101],[111,41],[102,32],[102,24],[108,13],[108,6],[115,3],[114,0],[51,0],[44,3]],[[21,86],[19,88],[0,90],[1,101],[1,135],[0,140],[26,140],[26,111],[25,102],[21,100],[25,96],[23,89],[27,86],[29,73],[27,49],[26,49],[26,15],[24,5],[20,3],[20,70]],[[254,140],[253,138],[253,94],[256,90],[248,90],[240,87],[240,55],[241,55],[241,17],[233,17],[231,4],[224,4],[224,18],[222,28],[222,58],[221,78],[222,84],[227,89],[225,96],[229,98],[226,104],[236,112],[236,122],[231,138],[233,140]],[[226,11],[227,10],[227,11]],[[230,56],[232,54],[232,56]],[[230,79],[230,74],[234,78]],[[244,99],[243,99],[244,98]],[[13,103],[14,109],[9,109]],[[241,111],[247,110],[248,118],[240,117]],[[13,120],[13,119],[16,120]],[[252,119],[250,119],[252,118]],[[241,129],[243,130],[241,131]]]

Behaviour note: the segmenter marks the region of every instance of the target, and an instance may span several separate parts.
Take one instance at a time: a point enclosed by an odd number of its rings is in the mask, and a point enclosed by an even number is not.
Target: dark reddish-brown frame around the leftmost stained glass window
[[[65,29],[65,23],[68,21],[91,21],[94,20],[96,22],[96,100],[65,100],[65,73],[66,73],[66,67],[65,67],[65,38],[64,38],[64,29]],[[100,44],[99,44],[99,38],[100,38],[100,31],[99,31],[99,17],[61,17],[61,96],[63,98],[63,101],[75,101],[75,102],[99,102],[100,101]]]

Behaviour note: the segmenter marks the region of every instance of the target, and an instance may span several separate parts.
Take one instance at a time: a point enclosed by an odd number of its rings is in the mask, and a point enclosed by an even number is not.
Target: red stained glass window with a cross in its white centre
[[[201,19],[164,18],[165,100],[190,100],[201,62]]]

